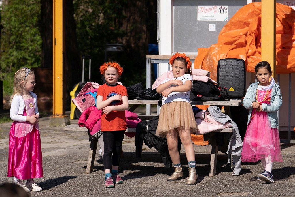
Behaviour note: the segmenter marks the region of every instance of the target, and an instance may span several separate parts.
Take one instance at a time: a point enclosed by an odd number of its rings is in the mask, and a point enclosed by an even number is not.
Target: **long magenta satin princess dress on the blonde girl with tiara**
[[[35,115],[34,98],[24,100],[23,115]],[[14,121],[9,132],[8,177],[43,177],[42,150],[38,123]]]

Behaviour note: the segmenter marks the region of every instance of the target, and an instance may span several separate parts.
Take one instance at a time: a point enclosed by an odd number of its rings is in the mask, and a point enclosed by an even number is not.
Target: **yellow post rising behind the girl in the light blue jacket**
[[[261,61],[268,61],[276,80],[276,0],[261,3]]]

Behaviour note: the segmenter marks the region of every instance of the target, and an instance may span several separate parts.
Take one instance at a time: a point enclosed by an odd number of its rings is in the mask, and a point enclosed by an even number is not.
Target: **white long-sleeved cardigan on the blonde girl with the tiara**
[[[35,103],[35,114],[39,114],[38,111],[38,105],[37,105],[37,95],[34,92],[31,92],[31,95],[34,98],[34,103]],[[22,95],[14,95],[11,101],[10,105],[10,118],[13,121],[18,121],[18,122],[25,122],[26,121],[26,116],[21,115],[24,113],[24,99],[22,98]]]

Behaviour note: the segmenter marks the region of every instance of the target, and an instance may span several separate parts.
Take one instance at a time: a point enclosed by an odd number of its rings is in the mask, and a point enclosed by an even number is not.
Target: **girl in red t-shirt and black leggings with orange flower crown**
[[[102,110],[101,131],[104,139],[104,173],[106,188],[114,188],[114,183],[123,183],[118,175],[121,145],[126,130],[125,110],[128,109],[126,87],[117,83],[122,75],[122,67],[114,61],[100,66],[106,83],[97,89],[96,108]],[[111,174],[112,167],[112,174]]]

